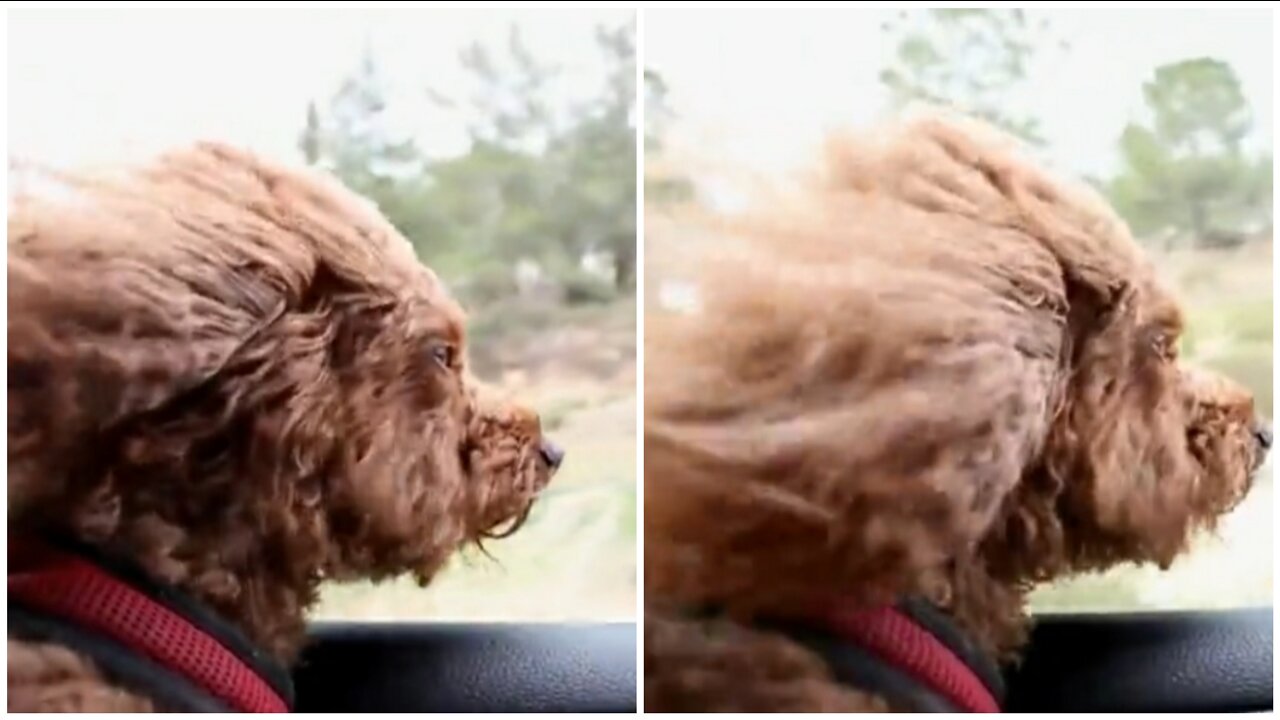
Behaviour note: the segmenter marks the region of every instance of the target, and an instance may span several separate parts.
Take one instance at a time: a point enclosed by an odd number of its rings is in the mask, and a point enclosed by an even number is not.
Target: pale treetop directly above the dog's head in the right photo
[[[897,37],[881,72],[897,109],[913,101],[954,108],[1042,145],[1039,123],[1014,108],[1033,54],[1053,42],[1047,20],[1023,10],[929,9],[902,12],[884,26]]]

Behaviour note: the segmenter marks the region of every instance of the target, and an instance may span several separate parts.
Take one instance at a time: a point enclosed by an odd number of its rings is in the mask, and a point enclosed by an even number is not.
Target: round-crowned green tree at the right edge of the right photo
[[[1211,58],[1161,65],[1143,96],[1151,120],[1125,127],[1121,169],[1106,186],[1134,232],[1215,246],[1270,224],[1271,156],[1245,149],[1253,119],[1231,67]]]

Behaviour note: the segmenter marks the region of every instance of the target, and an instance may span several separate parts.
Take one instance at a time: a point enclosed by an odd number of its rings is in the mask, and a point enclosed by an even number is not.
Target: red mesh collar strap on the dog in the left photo
[[[166,684],[170,697],[206,696],[179,697],[184,705],[288,712],[288,674],[238,630],[175,588],[133,569],[108,570],[113,562],[92,548],[58,546],[9,538],[10,635],[67,641],[109,675],[128,676],[128,684]],[[15,609],[26,619],[20,626]],[[174,683],[182,689],[175,692]]]

